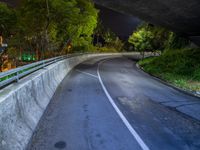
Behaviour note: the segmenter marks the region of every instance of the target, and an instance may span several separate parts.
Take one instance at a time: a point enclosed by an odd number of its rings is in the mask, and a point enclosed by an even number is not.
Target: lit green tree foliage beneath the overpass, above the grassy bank
[[[186,47],[189,40],[163,27],[144,23],[129,37],[129,43],[138,51],[164,51]]]

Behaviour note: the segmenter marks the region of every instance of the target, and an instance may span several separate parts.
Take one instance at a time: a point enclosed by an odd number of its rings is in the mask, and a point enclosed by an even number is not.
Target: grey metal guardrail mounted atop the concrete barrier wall
[[[12,69],[6,72],[2,72],[0,73],[0,88],[15,81],[18,82],[20,78],[26,75],[29,75],[30,73],[33,73],[39,69],[42,69],[48,65],[51,65],[63,59],[70,58],[77,55],[81,55],[81,54],[59,56],[59,57],[35,62],[32,64],[28,64],[28,65],[25,65],[16,69]]]

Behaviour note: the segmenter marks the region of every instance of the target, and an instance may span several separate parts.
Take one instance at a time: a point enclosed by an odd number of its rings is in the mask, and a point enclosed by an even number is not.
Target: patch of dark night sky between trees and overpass
[[[100,10],[100,19],[103,25],[123,39],[128,38],[141,23],[141,20],[136,17],[127,16],[101,6],[96,6],[96,8]]]

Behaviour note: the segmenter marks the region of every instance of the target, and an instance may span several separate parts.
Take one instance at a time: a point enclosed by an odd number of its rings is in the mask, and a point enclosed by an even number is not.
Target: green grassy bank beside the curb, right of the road
[[[190,91],[200,91],[200,49],[166,50],[139,61],[144,71]]]

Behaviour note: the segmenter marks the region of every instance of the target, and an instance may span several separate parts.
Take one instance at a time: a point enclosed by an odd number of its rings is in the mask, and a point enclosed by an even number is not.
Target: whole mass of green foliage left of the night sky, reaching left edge
[[[14,36],[9,46],[61,51],[70,42],[87,51],[97,26],[98,11],[90,0],[22,0],[19,8],[0,3],[0,32]]]

